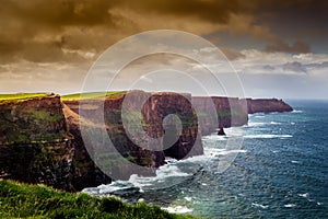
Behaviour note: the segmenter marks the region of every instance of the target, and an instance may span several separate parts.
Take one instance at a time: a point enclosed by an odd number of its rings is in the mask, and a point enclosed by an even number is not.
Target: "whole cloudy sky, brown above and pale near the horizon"
[[[245,96],[328,99],[327,1],[0,0],[0,93],[81,92],[89,69],[110,46],[145,31],[176,30],[218,46]],[[212,54],[203,56],[210,60]],[[173,68],[181,60],[162,56],[131,64],[116,89],[141,67]],[[171,74],[156,77],[175,81]]]

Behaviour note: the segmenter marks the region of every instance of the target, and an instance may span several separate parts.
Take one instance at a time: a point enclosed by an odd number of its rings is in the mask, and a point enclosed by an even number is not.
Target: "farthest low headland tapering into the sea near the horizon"
[[[293,108],[278,99],[246,99],[248,113],[292,112]]]

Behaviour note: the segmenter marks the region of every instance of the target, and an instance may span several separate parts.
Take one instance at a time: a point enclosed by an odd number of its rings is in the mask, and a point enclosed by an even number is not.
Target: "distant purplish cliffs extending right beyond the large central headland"
[[[248,123],[248,114],[282,113],[293,108],[277,99],[237,99],[225,96],[192,96],[202,135],[219,128],[243,126]]]

